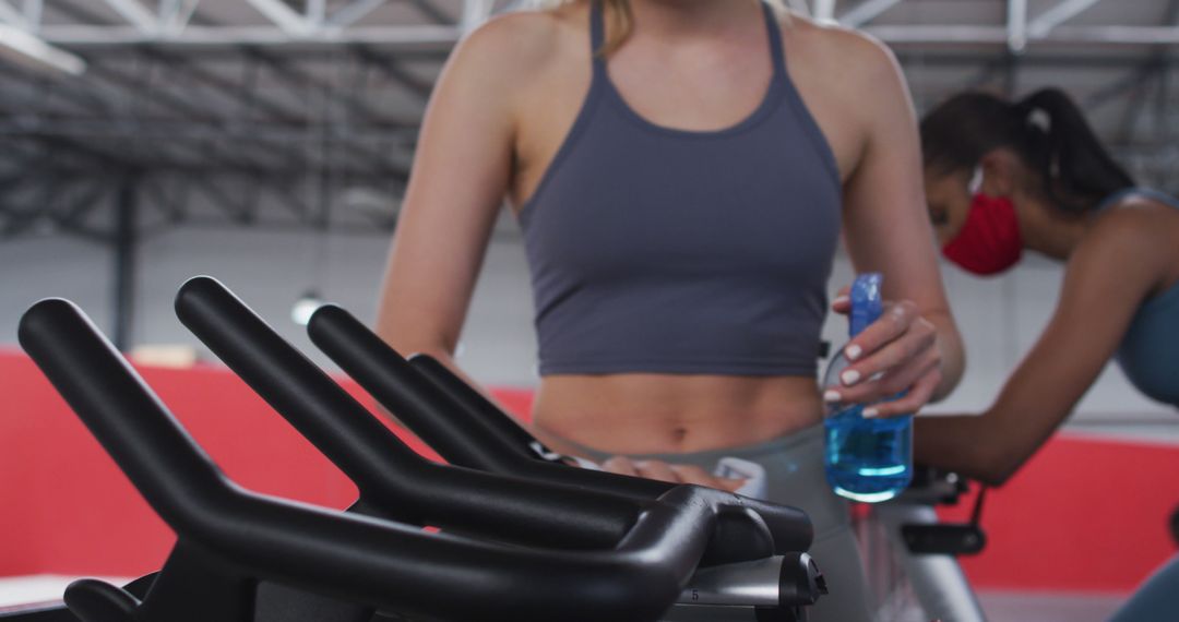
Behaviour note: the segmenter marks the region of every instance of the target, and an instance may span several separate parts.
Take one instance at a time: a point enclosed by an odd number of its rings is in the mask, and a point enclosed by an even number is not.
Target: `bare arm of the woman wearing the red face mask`
[[[917,419],[916,459],[992,485],[1052,436],[1113,356],[1171,254],[1144,214],[1094,225],[1068,262],[1047,329],[981,416]]]

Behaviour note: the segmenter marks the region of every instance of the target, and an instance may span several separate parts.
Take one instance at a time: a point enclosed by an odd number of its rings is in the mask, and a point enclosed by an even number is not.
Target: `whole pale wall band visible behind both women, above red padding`
[[[380,236],[321,239],[309,232],[229,227],[158,234],[139,253],[133,342],[196,343],[176,320],[171,304],[185,278],[204,273],[220,278],[299,349],[330,366],[289,319],[290,306],[314,286],[325,299],[371,320],[387,251],[388,240]],[[15,340],[20,312],[45,296],[74,299],[100,327],[111,330],[110,264],[104,249],[55,234],[0,243],[0,344]],[[949,266],[943,274],[966,336],[969,370],[961,389],[934,410],[977,411],[989,404],[1047,322],[1061,270],[1029,256],[1019,269],[995,279],[979,279]],[[850,266],[841,258],[832,291],[850,278]],[[842,318],[830,318],[824,336],[839,344],[845,330]],[[534,352],[523,250],[514,223],[506,218],[488,251],[460,362],[488,384],[527,386],[535,382]],[[1174,410],[1139,396],[1111,365],[1081,403],[1079,416],[1171,421]]]

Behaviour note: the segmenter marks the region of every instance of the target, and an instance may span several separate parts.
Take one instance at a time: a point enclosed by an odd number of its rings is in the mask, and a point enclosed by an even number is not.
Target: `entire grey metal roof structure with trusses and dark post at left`
[[[1075,24],[1115,0],[1034,14],[1028,0],[1001,1],[994,24],[930,25],[890,21],[917,0],[785,0],[890,44],[907,68],[961,71],[961,84],[918,92],[918,106],[955,87],[1014,95],[1035,67],[1119,70],[1082,102],[1128,101],[1115,154],[1179,192],[1179,0],[1152,26]],[[442,61],[526,4],[235,2],[219,8],[252,12],[255,25],[219,24],[212,0],[0,0],[0,239],[53,231],[111,247],[120,344],[144,236],[182,223],[387,236]],[[416,24],[390,22],[407,15]],[[353,188],[368,198],[350,204]]]

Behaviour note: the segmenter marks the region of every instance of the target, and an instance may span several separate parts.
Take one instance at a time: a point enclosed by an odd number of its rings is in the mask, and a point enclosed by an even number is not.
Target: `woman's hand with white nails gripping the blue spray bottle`
[[[847,293],[844,289],[832,300],[835,312],[851,311]],[[864,409],[868,418],[916,413],[942,382],[937,331],[910,300],[885,300],[881,318],[851,339],[843,353],[850,365],[838,384],[824,388],[823,399],[872,404]],[[901,392],[902,397],[882,402]]]

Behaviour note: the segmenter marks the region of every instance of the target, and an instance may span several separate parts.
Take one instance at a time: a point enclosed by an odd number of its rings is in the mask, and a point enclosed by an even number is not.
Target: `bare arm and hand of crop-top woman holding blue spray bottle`
[[[881,322],[851,342],[863,355],[851,366],[875,382],[839,388],[847,401],[870,402],[909,391],[877,406],[881,416],[915,412],[948,395],[962,377],[964,353],[937,267],[926,212],[921,146],[900,67],[882,46],[863,41],[867,58],[859,115],[865,140],[844,184],[844,234],[857,272],[882,272],[894,300]],[[845,311],[847,304],[836,305]]]

